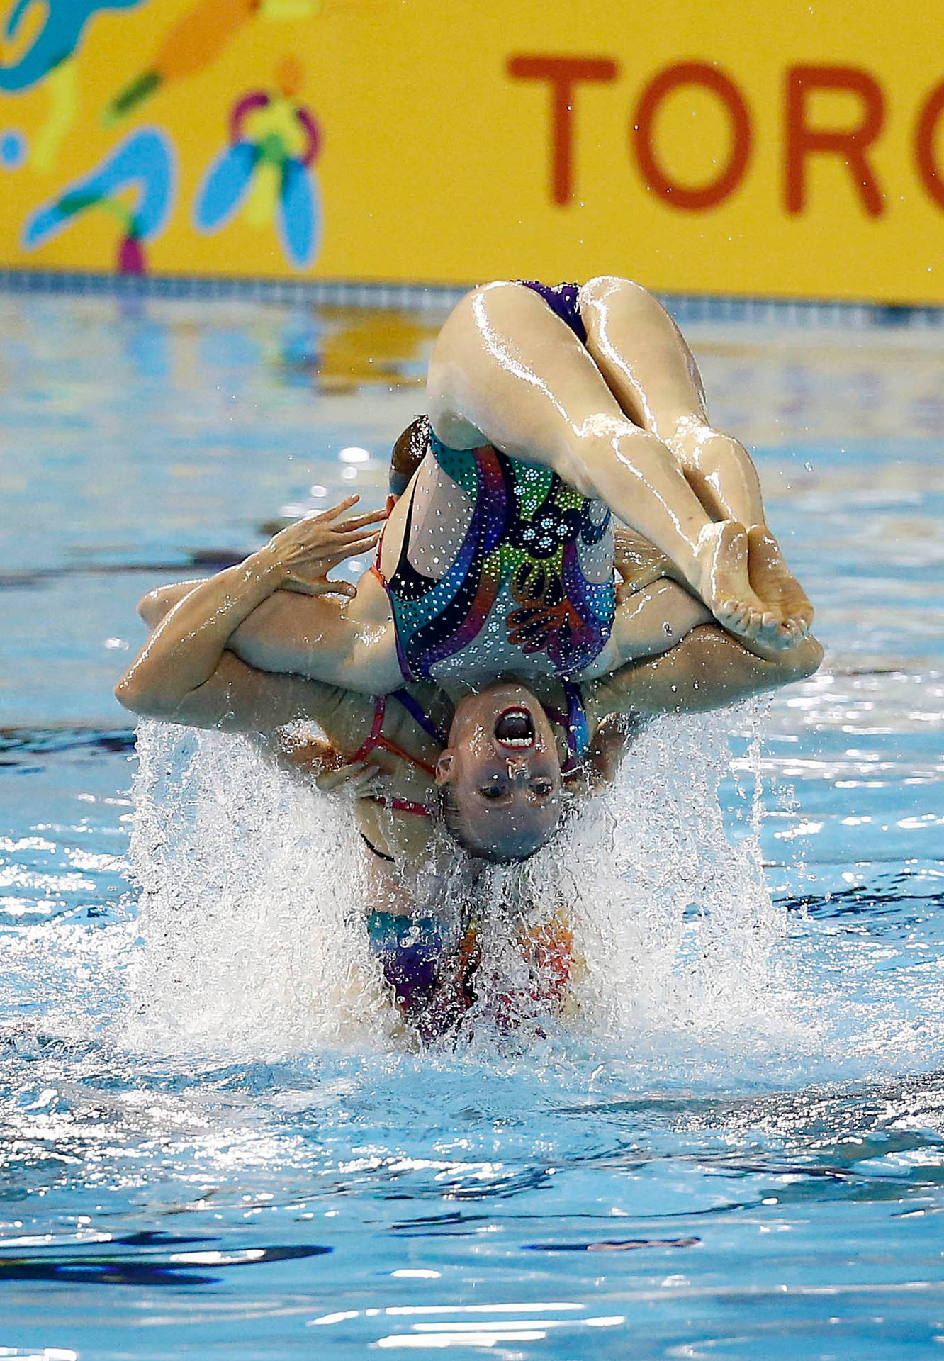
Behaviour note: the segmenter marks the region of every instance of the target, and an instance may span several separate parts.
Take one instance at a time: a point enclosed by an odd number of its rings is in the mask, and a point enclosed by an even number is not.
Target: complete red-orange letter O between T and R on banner
[[[653,150],[653,124],[660,105],[667,95],[686,84],[699,84],[715,94],[728,110],[730,120],[728,165],[720,176],[702,185],[701,189],[692,189],[690,185],[669,180]],[[692,212],[715,208],[729,193],[735,192],[743,180],[751,155],[751,116],[735,82],[715,67],[710,67],[705,61],[679,61],[676,65],[660,71],[639,95],[633,122],[633,143],[642,178],[650,189],[664,195],[673,208],[687,208]]]

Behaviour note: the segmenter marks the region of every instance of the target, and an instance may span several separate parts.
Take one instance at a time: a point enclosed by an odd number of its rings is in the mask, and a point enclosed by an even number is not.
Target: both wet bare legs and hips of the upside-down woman
[[[639,284],[475,290],[439,333],[427,396],[435,441],[554,468],[654,543],[729,632],[789,646],[809,629],[756,470],[710,425],[691,350]]]

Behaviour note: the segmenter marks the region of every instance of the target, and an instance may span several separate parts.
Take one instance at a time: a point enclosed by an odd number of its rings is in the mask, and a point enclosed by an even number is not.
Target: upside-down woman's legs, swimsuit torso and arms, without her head
[[[766,649],[805,636],[812,608],[754,464],[707,423],[691,352],[643,289],[468,294],[434,346],[427,400],[407,436],[423,456],[356,597],[268,602],[235,642],[243,660],[369,693],[615,671],[641,632],[613,599],[611,510],[729,632]]]

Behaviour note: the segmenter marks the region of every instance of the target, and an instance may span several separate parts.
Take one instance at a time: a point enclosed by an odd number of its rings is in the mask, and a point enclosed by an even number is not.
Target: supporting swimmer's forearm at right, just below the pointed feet
[[[720,709],[762,690],[811,676],[823,660],[812,637],[766,655],[748,649],[717,625],[701,625],[671,652],[630,663],[592,682],[588,700],[597,721],[607,713],[694,713]]]

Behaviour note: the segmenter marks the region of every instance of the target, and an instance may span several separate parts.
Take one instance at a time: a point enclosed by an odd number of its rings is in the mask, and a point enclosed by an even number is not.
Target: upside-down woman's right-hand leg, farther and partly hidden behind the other
[[[590,279],[579,302],[588,350],[613,396],[672,449],[714,520],[739,520],[747,528],[751,585],[796,640],[809,629],[812,606],[767,529],[747,449],[709,422],[698,365],[675,321],[628,279]]]

